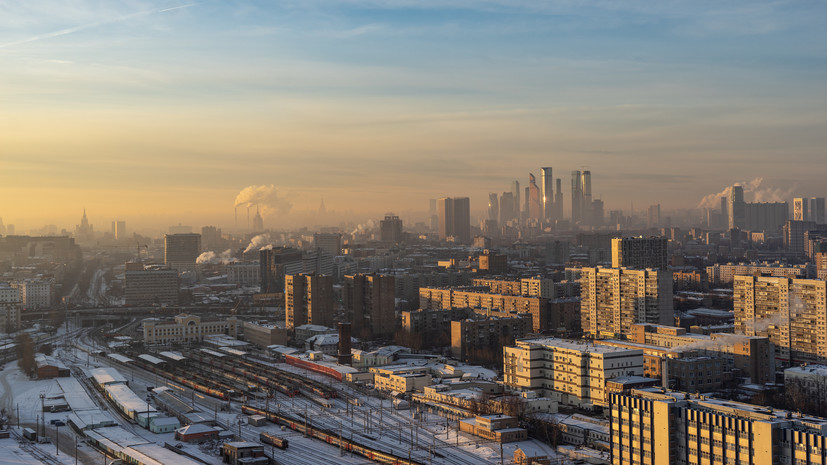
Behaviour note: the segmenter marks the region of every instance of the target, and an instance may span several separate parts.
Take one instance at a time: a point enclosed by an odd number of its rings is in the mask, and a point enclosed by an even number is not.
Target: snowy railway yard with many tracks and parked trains
[[[498,442],[459,432],[456,421],[428,413],[416,404],[398,410],[375,391],[277,363],[260,353],[203,346],[148,353],[126,345],[104,346],[89,330],[76,332],[66,342],[56,352],[72,367],[71,381],[77,380],[80,387],[67,388],[67,381],[59,385],[67,398],[76,398],[78,393],[66,391],[82,390],[89,405],[73,406],[72,410],[77,407],[81,412],[71,415],[43,414],[41,423],[57,418],[68,422],[63,431],[44,425],[53,441],[61,434],[62,459],[73,458],[77,439],[88,444],[79,463],[101,463],[105,454],[110,462],[218,464],[222,463],[220,445],[228,441],[261,446],[269,463],[276,464],[506,464],[513,463],[516,447],[527,446],[559,463],[568,463],[539,441],[501,447]],[[100,373],[105,376],[101,378]],[[126,400],[122,399],[123,385],[106,384],[118,380],[131,389],[125,393]],[[44,381],[37,383],[42,386]],[[43,400],[28,392],[28,397],[14,402],[38,404]],[[21,423],[38,426],[36,410],[21,412]],[[203,423],[217,427],[220,436],[199,445],[179,440],[171,432],[150,432],[146,428],[150,428],[155,410],[170,417],[167,422],[177,418],[181,426]],[[105,418],[113,421],[105,423]],[[104,424],[110,426],[102,427]],[[43,455],[57,447],[39,445],[36,449]],[[96,454],[97,459],[93,458]],[[63,463],[38,460],[34,463]]]

